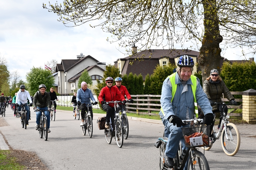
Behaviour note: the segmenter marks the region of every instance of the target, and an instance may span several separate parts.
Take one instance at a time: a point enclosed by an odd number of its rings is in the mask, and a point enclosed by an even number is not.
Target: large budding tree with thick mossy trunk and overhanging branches
[[[43,8],[56,13],[68,27],[94,23],[91,27],[100,26],[113,34],[113,40],[107,40],[123,47],[136,43],[142,50],[152,45],[175,49],[174,44],[180,43],[185,49],[186,42],[193,42],[200,48],[203,80],[211,69],[220,69],[222,41],[227,47],[248,47],[256,52],[255,1],[62,1],[49,2],[49,7],[43,4]],[[91,22],[95,20],[99,22]]]

